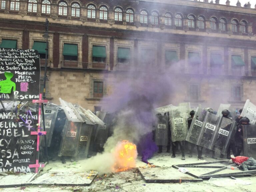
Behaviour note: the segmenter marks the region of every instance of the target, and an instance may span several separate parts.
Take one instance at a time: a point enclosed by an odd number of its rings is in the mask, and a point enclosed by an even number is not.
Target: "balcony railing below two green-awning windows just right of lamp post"
[[[61,61],[61,68],[107,70],[108,69],[108,63]]]

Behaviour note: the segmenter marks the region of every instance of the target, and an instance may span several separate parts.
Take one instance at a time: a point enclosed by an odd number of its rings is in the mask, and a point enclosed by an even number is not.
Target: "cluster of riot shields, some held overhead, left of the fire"
[[[109,137],[112,115],[92,113],[78,104],[68,103],[61,98],[61,105],[48,103],[44,106],[46,140],[50,157],[87,158],[93,152],[102,151]],[[105,123],[106,122],[106,123]],[[44,139],[40,148],[45,148]],[[42,156],[40,161],[45,161]]]

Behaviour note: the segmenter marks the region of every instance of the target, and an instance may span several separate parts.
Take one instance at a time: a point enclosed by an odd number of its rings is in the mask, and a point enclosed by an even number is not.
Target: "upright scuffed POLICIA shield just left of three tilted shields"
[[[185,141],[188,132],[187,110],[185,106],[171,107],[169,110],[172,141]]]

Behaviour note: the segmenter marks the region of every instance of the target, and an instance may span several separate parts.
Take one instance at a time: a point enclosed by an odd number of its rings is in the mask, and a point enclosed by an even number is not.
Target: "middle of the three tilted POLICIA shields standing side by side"
[[[214,136],[217,131],[218,121],[221,116],[217,116],[213,113],[207,112],[203,121],[202,131],[198,138],[198,145],[205,147],[207,149],[213,149],[214,146]]]

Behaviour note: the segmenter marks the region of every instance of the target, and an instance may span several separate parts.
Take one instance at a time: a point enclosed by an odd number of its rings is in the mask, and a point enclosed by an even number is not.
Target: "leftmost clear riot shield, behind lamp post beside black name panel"
[[[54,131],[55,121],[57,118],[57,113],[59,108],[60,106],[52,103],[47,103],[44,106],[44,121],[45,121],[45,131],[47,132],[46,134],[47,147],[50,147],[51,145],[52,134]],[[40,127],[43,128],[43,120],[41,120]],[[45,147],[44,138],[45,137],[41,137],[40,139],[40,146],[42,147]]]

